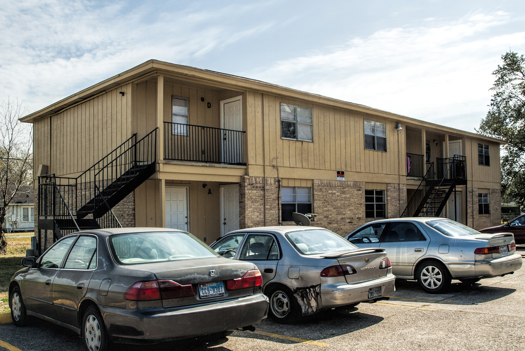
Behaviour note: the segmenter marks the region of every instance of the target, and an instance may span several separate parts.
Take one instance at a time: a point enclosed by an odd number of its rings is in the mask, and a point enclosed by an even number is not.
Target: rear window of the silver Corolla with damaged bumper
[[[286,234],[288,241],[302,254],[320,254],[337,251],[353,251],[354,244],[325,229],[291,231]]]

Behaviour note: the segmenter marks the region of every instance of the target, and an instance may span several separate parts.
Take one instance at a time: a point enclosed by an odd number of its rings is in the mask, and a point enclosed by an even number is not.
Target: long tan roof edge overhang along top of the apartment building
[[[221,86],[230,86],[232,88],[235,87],[236,89],[242,90],[253,89],[258,90],[262,93],[285,95],[290,98],[306,100],[312,103],[328,104],[333,107],[338,107],[345,110],[352,110],[355,112],[361,112],[371,116],[381,116],[385,119],[395,120],[395,122],[397,123],[403,123],[410,126],[417,126],[419,128],[425,128],[440,133],[468,135],[477,139],[488,140],[499,144],[507,144],[506,141],[494,137],[467,132],[452,127],[439,125],[436,123],[430,123],[415,118],[410,118],[404,115],[374,109],[365,105],[333,99],[325,97],[323,95],[309,93],[306,91],[286,88],[278,86],[276,84],[263,82],[260,80],[234,76],[229,75],[227,73],[220,73],[216,71],[205,70],[190,66],[177,65],[175,63],[164,62],[159,60],[148,60],[144,63],[141,63],[141,65],[135,66],[127,71],[119,73],[116,76],[103,80],[84,90],[81,90],[78,93],[72,94],[69,97],[64,98],[54,104],[51,104],[44,109],[28,114],[23,118],[20,118],[20,121],[33,123],[41,118],[45,118],[47,116],[59,113],[60,111],[72,105],[88,100],[94,97],[95,95],[103,93],[104,91],[112,90],[116,87],[122,86],[125,83],[133,82],[137,79],[140,79],[141,77],[144,77],[146,75],[152,75],[152,73],[154,75],[166,75],[179,78],[187,77],[187,79],[196,79],[201,80],[202,82],[215,82],[220,84]]]

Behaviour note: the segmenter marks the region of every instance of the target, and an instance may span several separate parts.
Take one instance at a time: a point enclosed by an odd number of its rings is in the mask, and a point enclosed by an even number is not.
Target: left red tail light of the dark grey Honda
[[[131,285],[124,294],[124,300],[153,301],[195,295],[193,285],[181,285],[171,280],[151,280]]]

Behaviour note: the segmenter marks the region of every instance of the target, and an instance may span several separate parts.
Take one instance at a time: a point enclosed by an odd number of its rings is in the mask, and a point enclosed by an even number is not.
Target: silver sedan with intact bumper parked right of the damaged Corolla
[[[452,279],[474,284],[513,273],[522,261],[511,233],[482,234],[445,218],[376,220],[345,238],[361,248],[384,248],[396,277],[415,279],[429,293],[446,290]]]

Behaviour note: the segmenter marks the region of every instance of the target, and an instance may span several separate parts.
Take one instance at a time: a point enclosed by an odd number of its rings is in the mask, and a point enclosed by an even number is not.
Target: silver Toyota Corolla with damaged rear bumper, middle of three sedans
[[[331,307],[387,299],[395,291],[384,249],[359,249],[324,228],[236,230],[211,247],[223,257],[257,265],[270,299],[269,315],[279,323]]]

